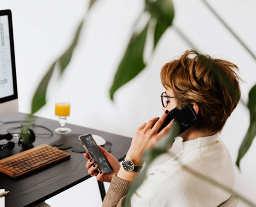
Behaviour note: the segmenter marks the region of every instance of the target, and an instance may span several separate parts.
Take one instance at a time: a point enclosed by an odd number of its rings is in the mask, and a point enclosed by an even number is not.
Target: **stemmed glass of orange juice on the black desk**
[[[68,97],[56,97],[55,115],[59,117],[61,127],[55,129],[56,134],[69,134],[71,129],[65,127],[70,114],[70,101]]]

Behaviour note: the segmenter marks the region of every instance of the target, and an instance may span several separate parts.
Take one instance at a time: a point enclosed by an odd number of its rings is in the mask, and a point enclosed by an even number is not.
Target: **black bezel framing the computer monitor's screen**
[[[13,43],[13,30],[12,30],[12,11],[11,10],[1,10],[0,16],[8,15],[8,24],[9,24],[9,36],[10,36],[10,49],[11,49],[11,61],[12,61],[12,80],[13,80],[13,91],[14,94],[11,96],[0,98],[0,104],[18,99],[17,91],[17,78],[16,78],[16,66],[15,66],[15,56],[14,56],[14,43]]]

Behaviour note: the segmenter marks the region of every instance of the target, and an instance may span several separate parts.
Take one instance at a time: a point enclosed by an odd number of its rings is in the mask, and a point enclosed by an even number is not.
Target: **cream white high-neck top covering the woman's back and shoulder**
[[[232,189],[232,159],[218,134],[182,142],[182,146],[177,156],[148,169],[145,181],[131,197],[131,207],[217,207],[230,197],[182,167],[196,170]]]

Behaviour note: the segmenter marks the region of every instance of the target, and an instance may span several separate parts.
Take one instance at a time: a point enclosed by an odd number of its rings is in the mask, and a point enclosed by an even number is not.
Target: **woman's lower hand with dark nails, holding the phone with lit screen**
[[[88,168],[88,173],[91,176],[94,176],[97,174],[97,180],[98,181],[102,181],[102,182],[111,182],[112,180],[112,176],[115,173],[118,173],[121,165],[118,162],[118,160],[111,155],[110,153],[108,153],[103,147],[99,146],[101,152],[103,153],[103,155],[105,156],[105,158],[108,160],[109,164],[111,165],[113,171],[111,173],[105,174],[103,173],[103,171],[101,170],[100,173],[98,173],[98,165],[96,163],[94,163],[94,159],[90,159],[90,157],[88,156],[88,153],[84,153],[84,156],[86,159],[88,159],[87,163],[86,163],[86,168]]]

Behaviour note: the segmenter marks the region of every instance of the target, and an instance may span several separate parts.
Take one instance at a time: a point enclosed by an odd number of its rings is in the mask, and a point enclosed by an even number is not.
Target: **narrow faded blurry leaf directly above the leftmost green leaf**
[[[81,28],[83,26],[83,23],[84,23],[84,20],[82,20],[81,23],[79,24],[79,26],[76,30],[76,33],[75,33],[75,37],[74,37],[71,45],[68,47],[68,49],[59,58],[61,74],[64,72],[65,68],[68,66],[68,64],[71,60],[73,51],[74,51],[74,49],[77,45],[77,42],[78,42],[78,38],[79,38],[79,35],[80,35],[80,32],[81,32]]]

